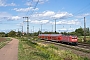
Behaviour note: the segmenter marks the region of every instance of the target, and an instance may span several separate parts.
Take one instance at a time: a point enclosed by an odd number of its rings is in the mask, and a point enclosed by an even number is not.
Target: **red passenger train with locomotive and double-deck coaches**
[[[66,42],[73,45],[77,45],[77,36],[71,36],[71,35],[62,35],[62,34],[39,34],[38,37],[40,39],[45,40],[54,40],[58,42]]]

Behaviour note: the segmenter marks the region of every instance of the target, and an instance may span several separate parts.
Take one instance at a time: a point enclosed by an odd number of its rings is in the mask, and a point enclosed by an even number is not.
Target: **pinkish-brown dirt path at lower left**
[[[12,38],[6,46],[0,49],[0,60],[18,60],[18,40]]]

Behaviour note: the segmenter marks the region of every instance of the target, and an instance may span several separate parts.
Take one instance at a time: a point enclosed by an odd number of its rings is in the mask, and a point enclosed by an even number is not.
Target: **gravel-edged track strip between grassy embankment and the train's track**
[[[72,45],[57,43],[55,41],[47,41],[47,40],[40,40],[40,39],[32,40],[32,42],[42,43],[42,44],[55,44],[55,46],[58,47],[60,50],[70,50],[72,53],[77,54],[78,56],[87,57],[90,59],[90,49],[85,49],[79,46],[72,46]]]

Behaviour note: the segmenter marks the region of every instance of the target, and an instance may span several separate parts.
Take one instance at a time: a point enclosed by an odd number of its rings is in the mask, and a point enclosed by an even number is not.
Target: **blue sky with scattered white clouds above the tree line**
[[[42,31],[74,31],[89,27],[90,0],[0,0],[0,31],[27,31],[29,17],[29,32]]]

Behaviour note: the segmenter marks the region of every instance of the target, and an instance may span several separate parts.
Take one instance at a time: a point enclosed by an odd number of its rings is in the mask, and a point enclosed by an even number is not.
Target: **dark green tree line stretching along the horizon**
[[[78,28],[76,29],[75,31],[73,32],[41,32],[41,31],[38,31],[38,32],[34,32],[34,33],[29,33],[29,36],[38,36],[39,34],[64,34],[64,35],[77,35],[77,36],[84,36],[84,28]],[[85,34],[86,36],[89,36],[90,35],[90,31],[89,31],[89,28],[86,28],[85,29]],[[22,33],[20,31],[18,32],[15,32],[15,31],[10,31],[8,33],[5,33],[5,32],[0,32],[0,37],[21,37],[21,36],[27,36],[26,33]]]

